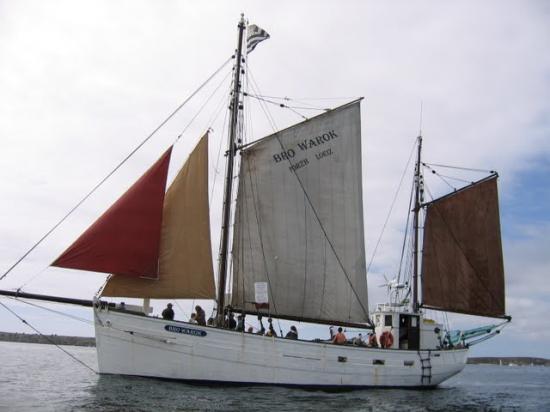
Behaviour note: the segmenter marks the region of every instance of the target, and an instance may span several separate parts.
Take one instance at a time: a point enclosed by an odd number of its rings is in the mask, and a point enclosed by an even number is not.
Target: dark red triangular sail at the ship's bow
[[[170,147],[53,266],[157,277]]]

